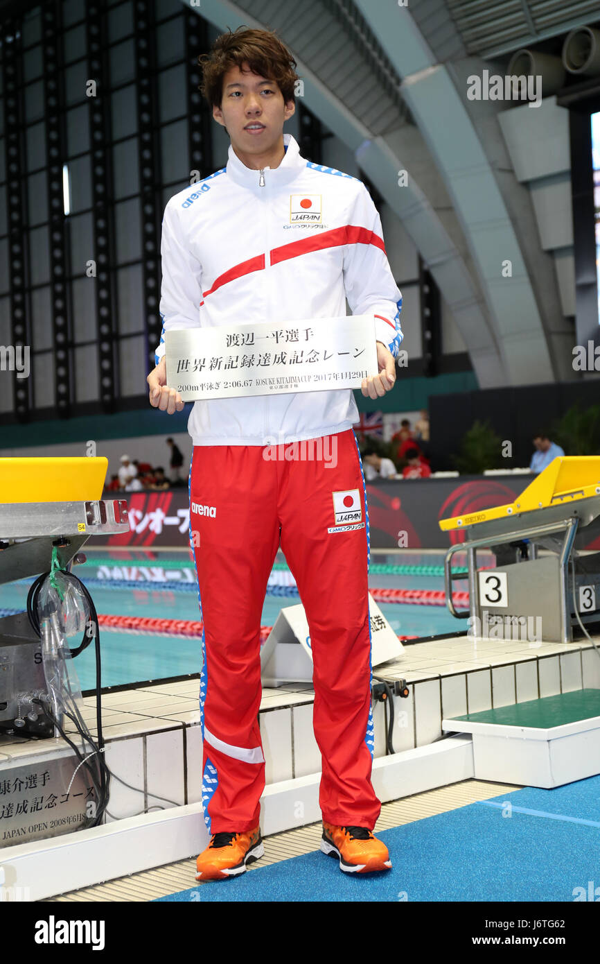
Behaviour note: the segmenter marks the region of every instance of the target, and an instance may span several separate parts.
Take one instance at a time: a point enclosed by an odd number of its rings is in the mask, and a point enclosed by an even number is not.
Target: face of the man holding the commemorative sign
[[[230,67],[222,79],[221,107],[213,107],[213,117],[227,131],[231,145],[241,153],[264,154],[277,147],[283,123],[296,110],[294,101],[283,102],[283,94],[266,77],[251,73],[248,64]],[[258,129],[248,130],[248,125]]]

